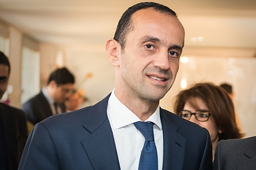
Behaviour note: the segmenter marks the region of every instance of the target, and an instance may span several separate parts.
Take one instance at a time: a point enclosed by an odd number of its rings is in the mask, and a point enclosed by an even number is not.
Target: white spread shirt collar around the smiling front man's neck
[[[121,101],[116,98],[115,89],[112,91],[108,99],[108,113],[110,115],[113,128],[118,129],[134,122],[141,121],[131,110],[129,110]],[[160,120],[160,106],[156,108],[156,111],[145,121],[153,122],[156,126],[162,130],[162,124]]]

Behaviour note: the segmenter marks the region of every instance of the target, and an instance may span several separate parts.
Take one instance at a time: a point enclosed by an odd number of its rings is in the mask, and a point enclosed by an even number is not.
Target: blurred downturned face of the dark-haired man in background
[[[68,83],[55,85],[53,88],[53,100],[57,103],[63,103],[70,95],[69,91],[73,89],[74,84]]]

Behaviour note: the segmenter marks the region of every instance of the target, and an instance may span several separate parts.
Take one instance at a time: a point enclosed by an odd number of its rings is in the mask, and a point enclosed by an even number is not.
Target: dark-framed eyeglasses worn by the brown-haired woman
[[[209,112],[202,112],[202,111],[198,111],[195,113],[191,113],[188,110],[183,110],[178,114],[180,117],[189,120],[191,118],[192,115],[195,115],[196,120],[200,121],[200,122],[205,122],[208,121],[211,113]]]

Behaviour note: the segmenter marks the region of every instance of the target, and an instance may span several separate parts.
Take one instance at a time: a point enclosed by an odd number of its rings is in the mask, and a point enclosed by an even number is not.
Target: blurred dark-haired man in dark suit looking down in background
[[[22,110],[28,121],[35,125],[47,117],[66,112],[64,101],[74,83],[75,77],[67,68],[54,70],[48,78],[47,86],[23,104]]]

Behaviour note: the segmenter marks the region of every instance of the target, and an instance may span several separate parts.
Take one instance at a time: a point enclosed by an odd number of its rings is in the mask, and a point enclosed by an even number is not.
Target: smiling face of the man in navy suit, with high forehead
[[[120,54],[117,76],[130,93],[150,101],[160,100],[179,69],[184,28],[176,17],[150,8],[136,11],[132,25]]]

